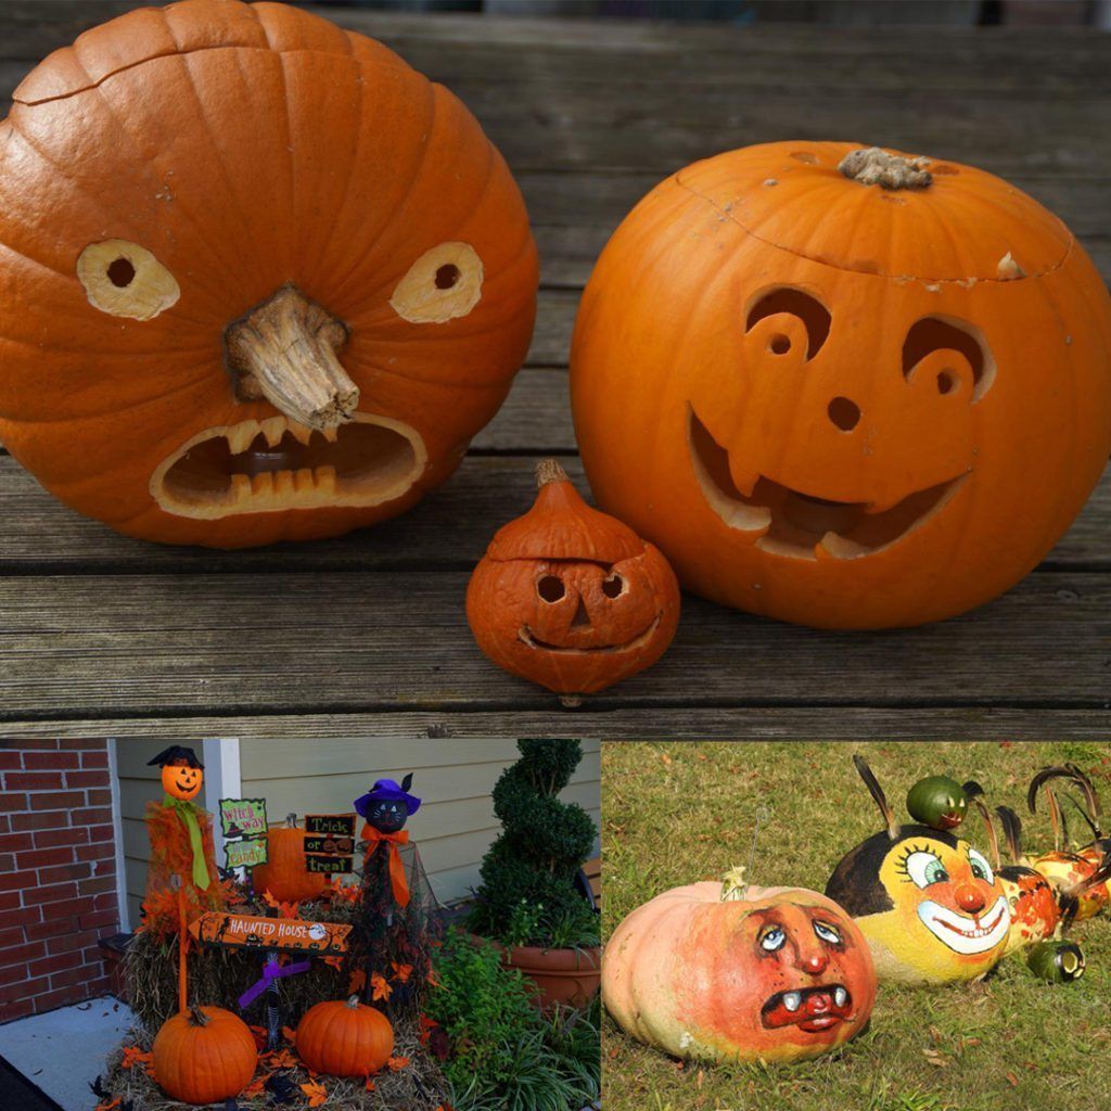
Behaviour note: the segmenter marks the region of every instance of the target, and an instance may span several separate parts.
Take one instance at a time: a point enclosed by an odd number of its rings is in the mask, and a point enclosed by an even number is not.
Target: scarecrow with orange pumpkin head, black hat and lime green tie
[[[188,927],[207,910],[223,905],[212,815],[193,799],[204,782],[204,765],[192,749],[171,744],[149,767],[162,769],[161,802],[147,803],[147,835],[150,838],[150,869],[143,901],[143,929],[167,935],[178,934],[178,1005],[188,1005],[186,950]]]

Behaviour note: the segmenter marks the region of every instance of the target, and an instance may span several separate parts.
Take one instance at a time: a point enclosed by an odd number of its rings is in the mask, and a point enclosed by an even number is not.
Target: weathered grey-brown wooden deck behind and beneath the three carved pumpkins
[[[130,4],[0,3],[0,99]],[[1111,733],[1111,472],[1004,598],[832,634],[684,599],[664,660],[577,710],[502,674],[463,614],[536,457],[581,479],[567,400],[579,292],[628,209],[731,147],[843,138],[1001,173],[1111,274],[1111,37],[581,23],[314,9],[478,114],[542,256],[528,364],[456,478],[341,540],[240,553],[118,537],[0,456],[0,730],[52,734],[1020,737]]]

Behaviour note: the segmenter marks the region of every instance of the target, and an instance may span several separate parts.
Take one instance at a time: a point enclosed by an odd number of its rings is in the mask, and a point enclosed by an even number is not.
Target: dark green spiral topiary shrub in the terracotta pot
[[[502,832],[482,860],[470,925],[507,945],[598,943],[597,915],[575,890],[595,830],[590,815],[557,797],[582,759],[571,740],[522,740],[521,759],[493,789]]]

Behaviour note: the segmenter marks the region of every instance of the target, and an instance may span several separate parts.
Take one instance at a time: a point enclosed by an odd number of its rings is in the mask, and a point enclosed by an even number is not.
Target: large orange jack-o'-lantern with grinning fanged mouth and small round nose
[[[599,504],[684,587],[823,628],[1007,590],[1111,451],[1111,299],[1052,213],[949,162],[780,142],[658,186],[571,354]]]

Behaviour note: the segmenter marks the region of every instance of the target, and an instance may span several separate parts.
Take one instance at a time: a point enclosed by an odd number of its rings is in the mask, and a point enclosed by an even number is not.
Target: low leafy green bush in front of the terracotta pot
[[[457,1111],[579,1111],[599,1091],[597,1002],[544,1018],[534,988],[498,950],[452,930],[426,1011],[447,1035],[443,1072]]]

